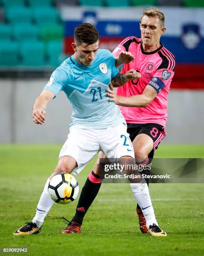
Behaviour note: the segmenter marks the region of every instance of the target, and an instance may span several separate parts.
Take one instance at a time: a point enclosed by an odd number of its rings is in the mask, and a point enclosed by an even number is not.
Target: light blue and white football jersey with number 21
[[[65,92],[73,107],[70,127],[103,129],[126,124],[119,107],[109,101],[106,92],[117,73],[112,53],[99,49],[90,66],[78,63],[73,55],[63,61],[44,89],[55,96]]]

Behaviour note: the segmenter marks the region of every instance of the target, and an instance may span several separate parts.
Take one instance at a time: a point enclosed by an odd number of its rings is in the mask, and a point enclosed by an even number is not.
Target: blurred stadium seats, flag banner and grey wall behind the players
[[[166,2],[169,5],[171,1],[145,1],[147,6]],[[75,26],[94,22],[100,33],[100,47],[113,50],[123,38],[140,36],[139,20],[147,6],[140,6],[138,0],[1,0],[0,3],[0,143],[62,143],[72,113],[66,96],[60,93],[48,105],[47,120],[42,126],[32,122],[31,110],[52,71],[73,53],[70,43]],[[80,5],[74,5],[77,3]],[[179,6],[159,7],[166,16],[167,27],[161,41],[177,63],[163,143],[204,143],[202,3],[174,0],[172,5]]]

